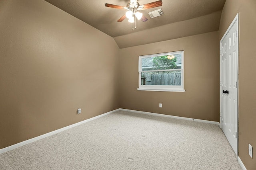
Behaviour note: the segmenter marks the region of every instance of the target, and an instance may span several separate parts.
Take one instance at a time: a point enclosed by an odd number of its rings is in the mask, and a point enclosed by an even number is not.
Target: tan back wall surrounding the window
[[[120,107],[219,121],[218,49],[218,31],[120,49]],[[186,92],[137,90],[139,55],[180,50]]]

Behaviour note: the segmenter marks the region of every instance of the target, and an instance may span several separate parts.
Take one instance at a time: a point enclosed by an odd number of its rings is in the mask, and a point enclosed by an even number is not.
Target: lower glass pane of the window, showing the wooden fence
[[[142,72],[141,85],[181,86],[181,70]]]

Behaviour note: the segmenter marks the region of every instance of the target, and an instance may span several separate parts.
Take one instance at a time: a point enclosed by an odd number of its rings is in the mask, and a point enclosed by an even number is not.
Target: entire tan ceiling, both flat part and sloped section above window
[[[217,31],[226,0],[162,0],[162,6],[141,11],[148,21],[117,20],[126,10],[105,7],[105,3],[126,6],[130,0],[46,0],[68,14],[113,37],[120,48]],[[156,0],[138,0],[140,5]],[[164,15],[150,18],[148,12],[162,8]],[[166,35],[167,34],[167,35]],[[126,42],[123,40],[126,39]],[[129,40],[130,39],[130,40]],[[136,39],[137,43],[130,41]],[[154,39],[154,40],[153,40]],[[143,41],[143,42],[142,42]]]

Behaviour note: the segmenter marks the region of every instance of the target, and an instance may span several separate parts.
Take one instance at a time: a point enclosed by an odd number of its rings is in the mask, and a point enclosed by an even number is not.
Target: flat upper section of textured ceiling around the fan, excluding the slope
[[[226,0],[162,0],[161,7],[143,10],[142,13],[148,21],[137,21],[137,28],[132,30],[132,23],[126,18],[122,22],[117,20],[122,17],[126,10],[105,7],[104,4],[115,4],[126,6],[130,0],[46,0],[50,4],[71,14],[72,16],[88,23],[111,37],[122,37],[123,35],[153,29],[163,25],[191,20],[194,18],[212,15],[214,27],[218,27],[221,10]],[[138,0],[140,5],[154,2],[156,0]],[[148,12],[162,8],[164,15],[150,18]],[[203,21],[203,20],[202,20]],[[217,25],[216,25],[217,24]],[[202,24],[201,24],[202,25]],[[189,27],[189,25],[187,25]],[[209,31],[216,31],[211,30]],[[218,30],[218,29],[217,29]],[[208,31],[208,32],[209,32]],[[205,32],[205,31],[204,31]],[[207,31],[206,31],[207,32]],[[126,46],[124,46],[126,47]]]

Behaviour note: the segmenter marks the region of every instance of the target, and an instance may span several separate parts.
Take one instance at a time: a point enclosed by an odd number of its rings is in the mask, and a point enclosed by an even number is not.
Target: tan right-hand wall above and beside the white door
[[[256,1],[226,0],[220,21],[219,40],[239,12],[239,150],[238,156],[247,170],[256,169],[254,157],[248,154],[248,144],[256,148]]]

